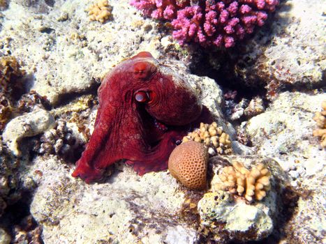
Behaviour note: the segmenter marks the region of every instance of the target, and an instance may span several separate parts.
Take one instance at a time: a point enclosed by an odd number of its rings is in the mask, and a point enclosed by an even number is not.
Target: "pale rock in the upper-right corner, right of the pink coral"
[[[216,54],[212,54],[211,63],[221,66],[228,75],[232,73],[231,81],[238,80],[249,88],[267,86],[269,98],[281,86],[323,86],[324,10],[323,2],[318,0],[281,1],[274,16],[269,16],[269,24],[230,50],[226,63],[218,63],[216,59],[221,55]]]

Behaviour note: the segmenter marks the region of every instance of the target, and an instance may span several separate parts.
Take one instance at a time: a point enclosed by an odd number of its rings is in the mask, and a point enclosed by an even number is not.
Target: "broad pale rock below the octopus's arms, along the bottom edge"
[[[43,223],[45,243],[198,240],[196,231],[177,218],[184,193],[170,174],[137,176],[126,165],[117,167],[107,182],[86,185],[72,178],[72,168],[55,157],[36,158],[31,172],[38,170],[43,176],[36,179],[40,185],[31,214]]]

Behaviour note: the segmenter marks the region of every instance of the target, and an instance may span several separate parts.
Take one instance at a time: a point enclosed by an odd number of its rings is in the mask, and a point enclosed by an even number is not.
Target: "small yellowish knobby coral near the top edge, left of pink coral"
[[[87,8],[89,20],[104,23],[111,16],[111,9],[107,0],[99,0],[98,3]]]

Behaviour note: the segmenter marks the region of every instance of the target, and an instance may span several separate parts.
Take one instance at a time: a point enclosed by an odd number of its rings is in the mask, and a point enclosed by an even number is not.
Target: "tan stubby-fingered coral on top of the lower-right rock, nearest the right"
[[[262,163],[249,170],[241,162],[234,162],[233,166],[224,167],[218,177],[223,183],[221,189],[244,196],[248,201],[262,200],[270,189],[271,173]]]

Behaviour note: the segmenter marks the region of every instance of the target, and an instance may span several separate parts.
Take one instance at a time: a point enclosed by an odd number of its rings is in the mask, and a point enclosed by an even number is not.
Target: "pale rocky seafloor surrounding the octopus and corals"
[[[326,119],[315,115],[326,101],[325,2],[281,1],[228,49],[180,46],[169,23],[128,0],[91,21],[94,3],[0,0],[0,243],[326,243]],[[101,79],[141,51],[177,70],[230,135],[232,154],[209,160],[207,190],[123,162],[99,183],[71,176]],[[232,162],[268,167],[262,201],[216,189]]]

